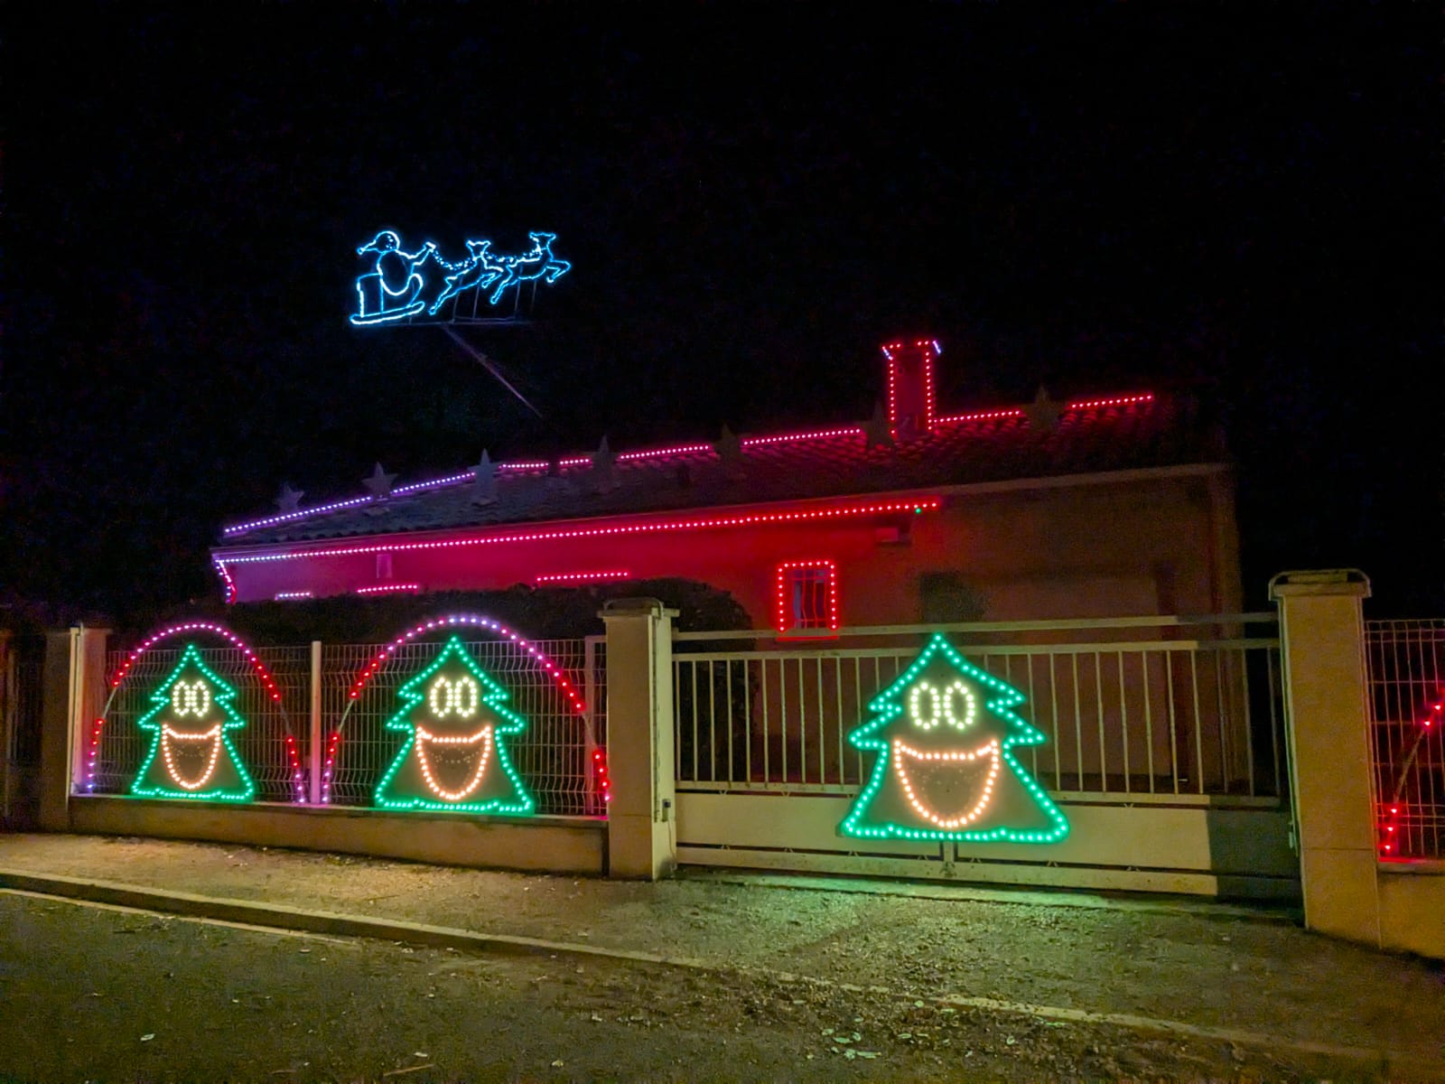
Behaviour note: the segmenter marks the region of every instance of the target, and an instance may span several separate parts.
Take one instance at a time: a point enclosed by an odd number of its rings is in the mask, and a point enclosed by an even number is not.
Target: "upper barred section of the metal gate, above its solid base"
[[[675,637],[676,773],[707,791],[850,793],[848,733],[945,632],[1026,697],[1046,741],[1016,754],[1058,793],[1238,795],[1285,788],[1273,614],[842,630],[828,646],[767,633]],[[1264,626],[1263,636],[1246,627]],[[738,640],[744,640],[740,643]]]

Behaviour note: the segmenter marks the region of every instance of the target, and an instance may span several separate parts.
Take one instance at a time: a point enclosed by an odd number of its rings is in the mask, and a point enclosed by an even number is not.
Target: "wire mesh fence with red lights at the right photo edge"
[[[1366,621],[1380,857],[1445,859],[1445,620]]]

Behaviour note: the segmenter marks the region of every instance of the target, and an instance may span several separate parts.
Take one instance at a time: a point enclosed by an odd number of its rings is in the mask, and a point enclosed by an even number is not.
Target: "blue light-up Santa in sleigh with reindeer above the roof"
[[[572,264],[552,253],[553,233],[530,233],[532,247],[513,256],[493,253],[490,238],[465,241],[467,256],[452,262],[434,241],[406,251],[394,230],[381,230],[357,249],[371,267],[357,276],[355,327],[387,324],[513,324],[522,319],[522,292],[552,285]],[[512,292],[510,314],[499,305]],[[486,308],[483,308],[486,298]]]

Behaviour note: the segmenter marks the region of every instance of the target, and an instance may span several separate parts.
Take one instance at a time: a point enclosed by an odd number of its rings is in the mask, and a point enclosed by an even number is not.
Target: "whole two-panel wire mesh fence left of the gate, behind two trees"
[[[577,689],[598,688],[588,675],[600,668],[600,637],[533,640]],[[390,655],[353,698],[357,675],[390,646]],[[236,688],[231,707],[246,726],[230,731],[237,754],[256,780],[256,801],[373,805],[373,792],[397,756],[405,736],[386,723],[405,705],[397,689],[431,661],[441,643],[381,643],[257,648],[279,700],[256,681],[254,663],[236,648],[202,648],[218,678]],[[587,698],[579,715],[535,653],[503,639],[464,642],[468,653],[507,692],[507,708],[525,728],[507,739],[507,753],[536,812],[601,815],[594,752],[605,749],[605,718]],[[81,793],[129,793],[153,743],[137,723],[155,704],[152,694],[181,659],[182,648],[152,648],[136,659],[111,694],[95,731],[94,757],[77,779]],[[124,652],[107,655],[107,674],[118,672]]]

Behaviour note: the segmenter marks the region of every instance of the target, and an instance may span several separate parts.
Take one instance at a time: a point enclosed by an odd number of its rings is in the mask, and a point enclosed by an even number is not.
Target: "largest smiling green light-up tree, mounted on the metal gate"
[[[1068,821],[1013,754],[1046,739],[1013,713],[1025,697],[935,633],[848,734],[874,752],[844,835],[958,843],[1058,843]]]

